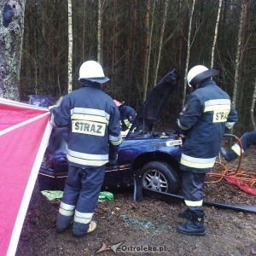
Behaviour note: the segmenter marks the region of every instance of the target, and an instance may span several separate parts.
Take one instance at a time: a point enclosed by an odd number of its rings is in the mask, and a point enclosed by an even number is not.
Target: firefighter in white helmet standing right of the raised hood
[[[179,213],[179,217],[187,218],[187,222],[179,224],[177,231],[185,235],[205,235],[203,183],[206,173],[212,170],[225,129],[237,122],[230,96],[211,79],[218,73],[216,69],[201,65],[189,70],[187,81],[194,90],[177,119],[177,126],[185,135],[180,169],[187,206]]]

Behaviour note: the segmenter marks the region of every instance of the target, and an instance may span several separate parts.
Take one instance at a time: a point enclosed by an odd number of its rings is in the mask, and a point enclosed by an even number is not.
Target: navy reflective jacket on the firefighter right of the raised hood
[[[177,119],[185,131],[180,168],[183,171],[211,172],[221,147],[225,128],[237,122],[230,96],[207,79],[194,90]]]

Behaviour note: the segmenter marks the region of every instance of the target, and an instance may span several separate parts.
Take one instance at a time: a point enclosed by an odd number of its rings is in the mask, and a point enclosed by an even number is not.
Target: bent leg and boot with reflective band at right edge
[[[235,160],[251,145],[256,145],[256,131],[247,131],[241,136],[240,140],[242,148],[240,148],[238,143],[235,143],[228,150],[223,147],[220,148],[220,153],[224,155],[225,160],[228,162]]]

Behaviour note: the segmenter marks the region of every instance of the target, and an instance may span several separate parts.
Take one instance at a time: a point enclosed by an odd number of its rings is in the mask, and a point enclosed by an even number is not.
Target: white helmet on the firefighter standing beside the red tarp
[[[102,66],[96,61],[85,61],[79,69],[79,80],[87,79],[104,84],[109,81],[103,73]]]

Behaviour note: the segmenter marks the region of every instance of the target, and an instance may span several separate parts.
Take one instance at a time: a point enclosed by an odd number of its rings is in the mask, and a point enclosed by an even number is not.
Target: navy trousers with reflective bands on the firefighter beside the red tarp
[[[73,234],[86,234],[98,203],[104,175],[105,165],[88,166],[84,169],[69,166],[57,216],[57,228],[58,225],[67,227],[73,221]]]

